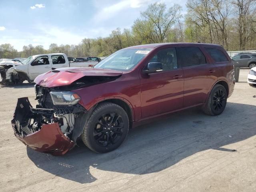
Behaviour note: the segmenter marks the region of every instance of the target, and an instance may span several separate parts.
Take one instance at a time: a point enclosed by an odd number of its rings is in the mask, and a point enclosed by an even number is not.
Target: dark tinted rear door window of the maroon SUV
[[[206,58],[198,47],[179,47],[177,50],[182,67],[206,64]]]

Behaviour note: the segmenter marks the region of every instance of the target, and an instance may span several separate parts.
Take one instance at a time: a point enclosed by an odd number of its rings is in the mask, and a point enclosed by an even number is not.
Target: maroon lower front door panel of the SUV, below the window
[[[182,69],[150,74],[140,82],[142,118],[182,108]]]

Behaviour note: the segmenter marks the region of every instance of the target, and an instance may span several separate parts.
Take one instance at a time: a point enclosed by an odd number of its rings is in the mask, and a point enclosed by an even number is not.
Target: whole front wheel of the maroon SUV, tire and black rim
[[[82,140],[90,150],[106,153],[124,142],[128,130],[129,119],[125,110],[117,104],[104,102],[96,106],[88,118]]]

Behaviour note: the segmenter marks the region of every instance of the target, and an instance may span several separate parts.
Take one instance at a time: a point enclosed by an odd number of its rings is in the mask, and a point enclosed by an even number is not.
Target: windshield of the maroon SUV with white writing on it
[[[94,68],[132,70],[152,49],[122,49],[99,62]]]

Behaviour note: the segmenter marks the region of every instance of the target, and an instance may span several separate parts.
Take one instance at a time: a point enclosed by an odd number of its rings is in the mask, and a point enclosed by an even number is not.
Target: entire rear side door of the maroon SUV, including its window
[[[184,72],[183,107],[206,102],[209,90],[216,82],[216,68],[210,64],[200,47],[177,48]]]

